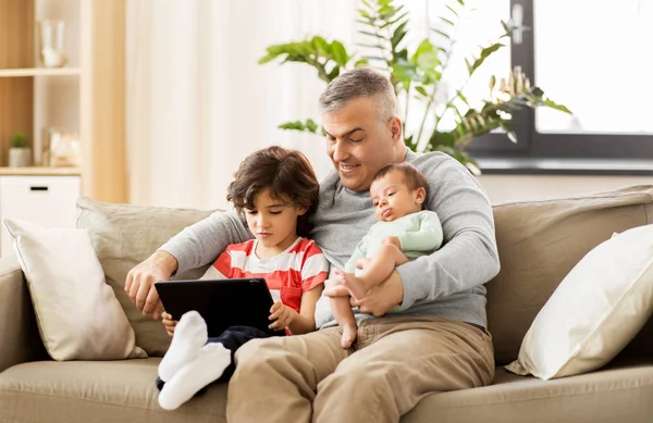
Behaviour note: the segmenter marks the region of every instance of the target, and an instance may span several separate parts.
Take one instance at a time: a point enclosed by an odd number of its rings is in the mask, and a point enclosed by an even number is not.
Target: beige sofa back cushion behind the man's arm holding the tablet
[[[107,283],[134,327],[136,345],[149,356],[163,356],[170,338],[161,323],[144,316],[124,291],[127,272],[184,227],[208,217],[212,211],[102,203],[89,198],[79,198],[77,210],[77,227],[90,232]],[[207,269],[208,265],[184,272],[175,278],[199,278]]]

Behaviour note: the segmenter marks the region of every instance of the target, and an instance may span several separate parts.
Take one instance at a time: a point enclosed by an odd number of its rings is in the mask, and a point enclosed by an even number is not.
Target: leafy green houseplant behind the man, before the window
[[[396,5],[394,0],[361,0],[357,23],[361,26],[359,33],[366,42],[358,46],[371,53],[356,57],[341,41],[330,42],[323,37],[315,36],[303,41],[270,46],[259,63],[268,63],[278,58],[282,59],[282,64],[304,63],[316,69],[318,77],[326,84],[350,67],[369,65],[382,70],[390,75],[395,92],[403,99],[405,128],[411,117],[411,101],[424,104],[417,133],[404,133],[406,146],[414,151],[445,152],[479,173],[476,161],[466,151],[475,138],[503,129],[513,142],[517,142],[513,113],[526,108],[549,107],[570,112],[566,107],[545,98],[542,89],[532,86],[519,67],[515,67],[507,79],[497,82],[495,76],[491,77],[489,97],[482,100],[480,108],[472,107],[465,96],[466,83],[449,96],[444,107],[435,108],[443,75],[447,72],[456,43],[452,34],[466,9],[468,7],[464,0],[447,4],[446,14],[440,16],[440,20],[451,30],[433,28],[439,34],[438,38],[444,41],[434,43],[426,38],[415,51],[409,52],[404,41],[408,34],[409,14],[404,11],[404,7]],[[466,60],[466,80],[475,75],[488,58],[505,47],[502,41],[510,37],[513,28],[508,23],[501,24],[504,34],[498,40],[480,48],[478,57]],[[442,127],[443,117],[447,113],[455,113],[455,127],[452,129]],[[433,129],[427,134],[424,127],[429,120]],[[319,130],[318,124],[311,119],[287,122],[280,127],[315,134]]]

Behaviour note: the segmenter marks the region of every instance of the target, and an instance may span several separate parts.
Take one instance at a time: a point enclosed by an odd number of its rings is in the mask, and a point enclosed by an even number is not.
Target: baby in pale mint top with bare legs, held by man
[[[377,222],[356,246],[344,272],[336,278],[354,296],[362,297],[385,281],[392,271],[408,260],[430,254],[442,245],[442,225],[435,212],[422,210],[427,179],[412,164],[403,162],[381,169],[370,186]],[[369,259],[358,270],[360,259]],[[341,345],[349,348],[356,339],[356,320],[348,297],[331,298],[333,314],[343,327]]]

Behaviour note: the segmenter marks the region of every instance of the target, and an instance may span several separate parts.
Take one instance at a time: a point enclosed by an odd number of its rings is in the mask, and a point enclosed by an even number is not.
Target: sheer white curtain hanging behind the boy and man
[[[324,84],[308,66],[257,61],[318,34],[354,48],[357,3],[127,0],[131,202],[226,208],[238,163],[272,144],[304,151],[323,176],[324,140],[276,126],[319,119]]]

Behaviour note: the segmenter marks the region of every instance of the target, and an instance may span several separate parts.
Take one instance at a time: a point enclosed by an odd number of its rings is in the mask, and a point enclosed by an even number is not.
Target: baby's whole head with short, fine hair
[[[427,189],[427,178],[410,163],[382,167],[370,186],[377,220],[392,222],[422,210]]]

